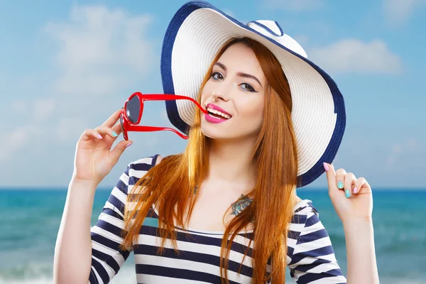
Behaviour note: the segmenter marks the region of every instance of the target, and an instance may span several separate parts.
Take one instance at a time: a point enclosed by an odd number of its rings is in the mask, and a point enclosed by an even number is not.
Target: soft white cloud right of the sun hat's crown
[[[382,40],[364,43],[356,38],[346,38],[312,48],[307,55],[327,72],[398,74],[402,71],[400,58]]]

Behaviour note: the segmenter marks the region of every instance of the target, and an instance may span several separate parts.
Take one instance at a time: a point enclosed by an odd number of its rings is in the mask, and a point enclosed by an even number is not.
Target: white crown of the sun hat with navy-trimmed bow
[[[304,58],[307,58],[307,54],[302,46],[290,35],[283,33],[283,29],[276,21],[270,20],[257,20],[250,21],[247,26],[253,28],[253,30],[265,35],[268,38],[275,40],[277,43],[284,45],[286,48],[292,50]]]

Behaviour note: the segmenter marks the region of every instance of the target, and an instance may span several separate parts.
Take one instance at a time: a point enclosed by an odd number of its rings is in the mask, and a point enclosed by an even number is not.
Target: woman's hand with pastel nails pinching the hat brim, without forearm
[[[324,164],[329,197],[342,223],[345,225],[351,221],[371,220],[373,195],[366,179],[357,179],[353,173],[346,173],[343,168],[334,170],[333,164]]]

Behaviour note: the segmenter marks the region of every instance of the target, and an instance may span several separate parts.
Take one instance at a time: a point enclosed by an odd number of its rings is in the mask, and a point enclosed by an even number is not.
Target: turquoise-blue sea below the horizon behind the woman
[[[92,225],[111,189],[94,197]],[[53,283],[53,254],[67,192],[0,190],[0,283]],[[346,275],[342,224],[327,189],[300,189],[320,212]],[[374,190],[373,225],[378,272],[384,284],[426,284],[426,189]],[[111,283],[136,283],[131,255]],[[289,273],[287,273],[288,275]],[[294,283],[288,275],[288,282]]]

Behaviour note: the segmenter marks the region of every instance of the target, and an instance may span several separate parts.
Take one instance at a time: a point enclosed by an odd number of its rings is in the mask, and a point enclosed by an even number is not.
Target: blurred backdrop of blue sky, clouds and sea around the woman
[[[163,35],[185,2],[0,1],[0,283],[53,283],[77,140],[133,92],[163,92]],[[333,163],[373,187],[381,283],[426,283],[426,2],[210,3],[243,23],[278,21],[334,78],[346,131]],[[173,127],[164,102],[146,103],[141,124]],[[168,131],[129,136],[133,145],[97,189],[92,224],[127,164],[187,143]],[[325,175],[297,194],[320,212],[346,275]],[[131,255],[111,283],[136,283],[133,265]]]

